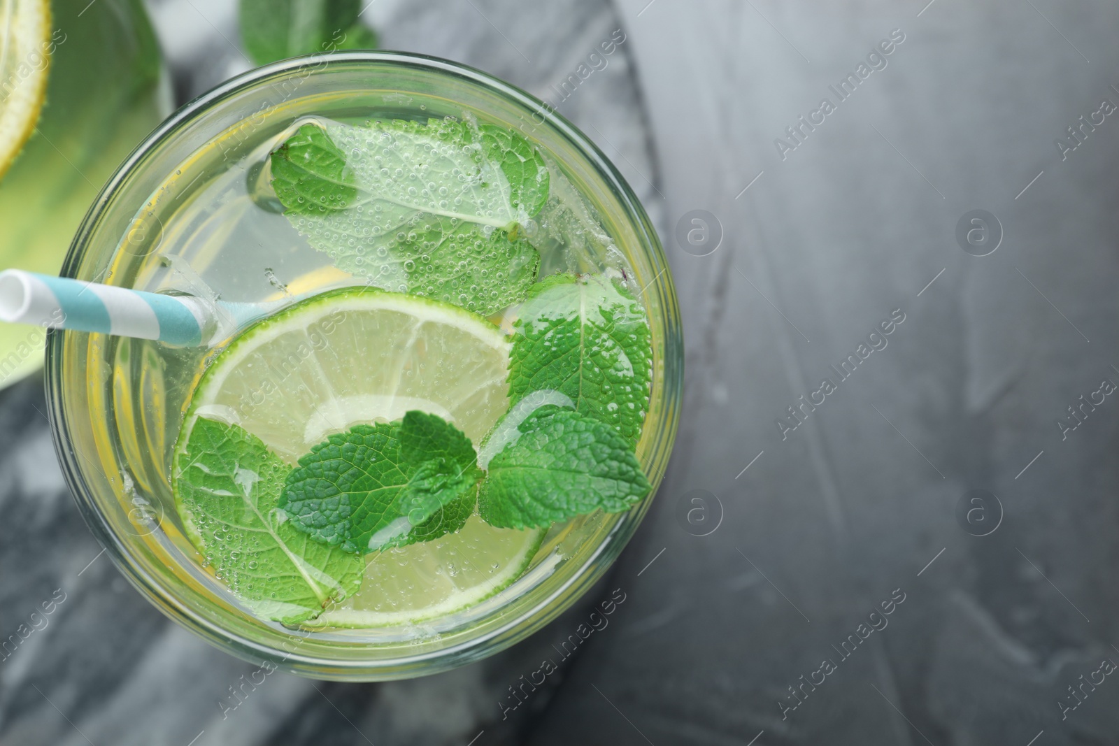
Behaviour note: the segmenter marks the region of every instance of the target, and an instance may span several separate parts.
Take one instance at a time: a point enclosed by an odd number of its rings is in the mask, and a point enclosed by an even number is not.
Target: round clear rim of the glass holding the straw
[[[145,157],[157,145],[175,138],[180,130],[188,126],[205,112],[227,100],[235,98],[242,93],[255,89],[257,86],[267,83],[271,78],[284,76],[292,70],[312,65],[321,66],[319,70],[309,73],[309,75],[314,75],[317,72],[325,70],[330,66],[345,63],[389,63],[466,78],[469,83],[511,100],[526,110],[539,112],[543,117],[539,126],[549,125],[554,128],[563,138],[574,144],[581,155],[593,167],[598,178],[602,179],[614,192],[623,208],[626,219],[642,239],[642,249],[648,255],[652,264],[652,270],[657,272],[650,286],[646,287],[646,292],[653,291],[664,309],[661,315],[665,322],[665,353],[662,377],[659,384],[664,389],[662,398],[665,402],[667,432],[666,437],[657,441],[649,456],[650,466],[653,472],[650,473],[653,491],[631,510],[618,514],[618,519],[610,527],[604,538],[589,553],[582,565],[572,573],[571,577],[555,587],[551,593],[542,595],[538,603],[533,604],[521,613],[514,615],[508,621],[496,625],[483,634],[469,636],[446,648],[414,654],[399,654],[392,659],[379,659],[376,661],[326,659],[314,654],[305,654],[301,651],[289,652],[282,657],[278,657],[280,652],[278,648],[231,631],[223,626],[220,620],[200,613],[198,608],[184,603],[184,599],[171,593],[159,578],[153,577],[131,559],[132,551],[128,542],[114,530],[107,517],[93,498],[93,490],[88,487],[86,475],[79,468],[78,454],[70,440],[70,416],[66,412],[65,400],[62,396],[65,388],[62,370],[65,356],[63,348],[64,334],[59,330],[49,330],[48,332],[45,386],[55,451],[66,483],[74,494],[75,502],[91,531],[110,555],[113,564],[141,595],[172,621],[186,626],[207,642],[243,660],[254,663],[260,663],[261,661],[276,662],[289,672],[319,679],[369,681],[411,678],[453,668],[458,665],[454,662],[458,657],[464,655],[469,651],[491,641],[497,642],[486,651],[485,654],[487,655],[508,648],[554,620],[571,603],[574,603],[575,599],[585,593],[593,583],[603,577],[652,504],[657,488],[660,484],[659,479],[652,479],[655,472],[659,471],[662,473],[664,469],[667,468],[668,457],[676,436],[683,396],[683,330],[680,328],[679,309],[671,274],[668,271],[667,258],[657,232],[626,179],[586,135],[571,124],[563,115],[558,114],[551,105],[488,73],[439,57],[403,51],[332,51],[294,57],[245,72],[184,104],[157,126],[129,154],[101,189],[74,236],[63,264],[62,275],[75,276],[83,259],[92,249],[90,234],[101,216],[111,206],[111,198],[137,169],[144,167]],[[579,587],[579,592],[572,595],[567,604],[556,603],[557,598],[568,595],[572,588],[576,586]],[[290,632],[292,636],[300,636],[294,631]],[[440,659],[449,659],[450,662],[442,667],[425,669],[425,663]],[[464,663],[470,661],[462,660],[459,662]],[[391,674],[378,676],[378,671],[383,670],[391,670]]]

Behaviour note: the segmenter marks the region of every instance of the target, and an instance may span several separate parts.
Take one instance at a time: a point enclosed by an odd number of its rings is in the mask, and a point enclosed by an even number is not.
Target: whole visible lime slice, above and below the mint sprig
[[[509,408],[509,343],[469,311],[367,287],[316,295],[245,330],[203,374],[179,445],[198,416],[244,427],[294,463],[330,433],[436,414],[478,444]],[[386,626],[476,604],[519,577],[544,530],[478,516],[433,541],[370,555],[361,587],[316,626]]]

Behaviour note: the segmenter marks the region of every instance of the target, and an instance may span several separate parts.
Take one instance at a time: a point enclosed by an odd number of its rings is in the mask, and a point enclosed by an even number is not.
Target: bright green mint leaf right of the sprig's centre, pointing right
[[[520,437],[489,462],[478,495],[482,520],[499,528],[546,527],[595,510],[629,510],[652,489],[632,447],[612,427],[544,405]]]

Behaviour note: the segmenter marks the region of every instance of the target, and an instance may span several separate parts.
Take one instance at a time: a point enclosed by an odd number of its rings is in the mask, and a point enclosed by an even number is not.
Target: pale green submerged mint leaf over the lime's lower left
[[[176,463],[175,497],[217,577],[254,613],[297,624],[356,592],[365,563],[284,520],[276,501],[290,471],[254,435],[199,417]]]

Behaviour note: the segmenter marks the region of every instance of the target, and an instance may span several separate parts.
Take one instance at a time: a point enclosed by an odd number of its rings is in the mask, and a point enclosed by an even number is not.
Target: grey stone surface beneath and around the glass
[[[180,96],[244,67],[226,2],[153,11]],[[222,719],[250,667],[98,557],[29,381],[0,394],[0,632],[65,596],[0,661],[0,743],[1119,743],[1119,8],[368,12],[537,93],[628,35],[561,107],[657,216],[684,311],[678,445],[596,592],[626,603],[505,720],[585,608],[427,679],[271,677]]]

